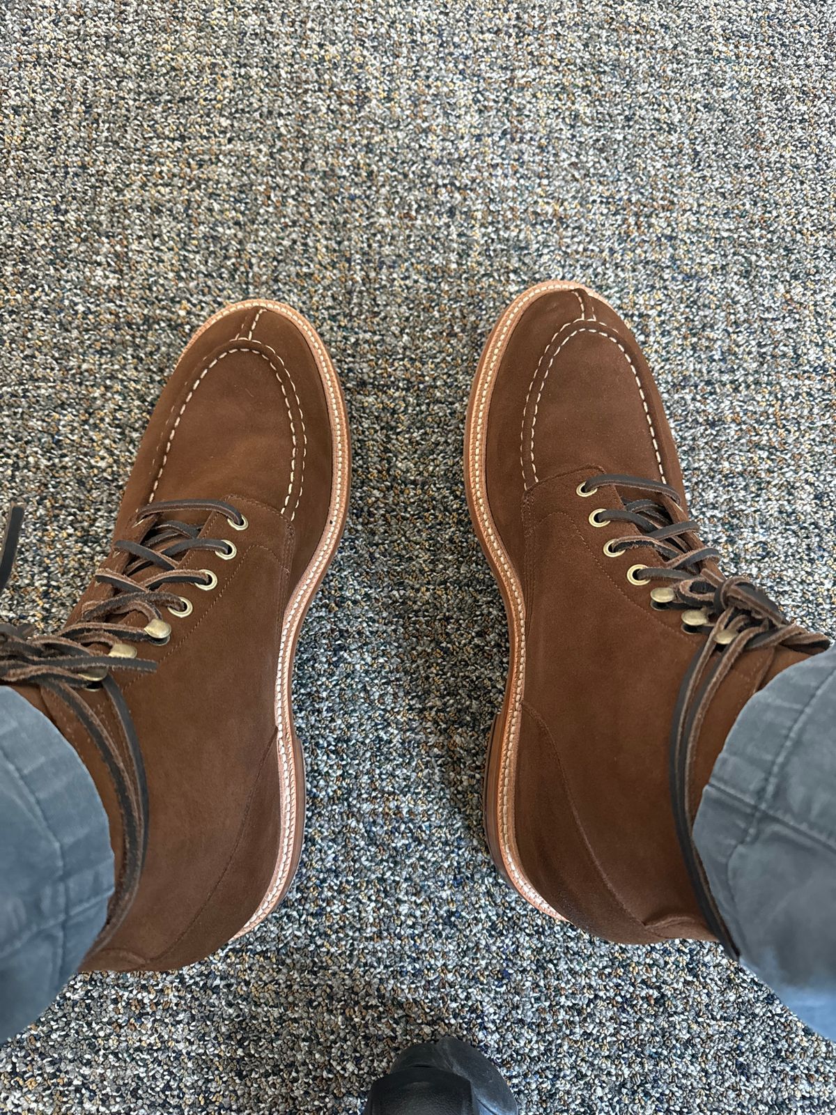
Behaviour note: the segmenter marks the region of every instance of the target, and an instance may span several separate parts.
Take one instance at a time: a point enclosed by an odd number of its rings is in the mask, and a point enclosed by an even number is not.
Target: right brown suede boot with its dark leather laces
[[[494,859],[537,909],[601,937],[733,952],[691,824],[742,706],[827,640],[720,573],[635,339],[584,287],[542,283],[497,322],[465,474],[511,637]]]

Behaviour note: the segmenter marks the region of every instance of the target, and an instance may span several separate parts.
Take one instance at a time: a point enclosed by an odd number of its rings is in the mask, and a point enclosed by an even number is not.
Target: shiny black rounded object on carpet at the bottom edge
[[[369,1092],[364,1115],[517,1115],[492,1061],[453,1037],[411,1046]]]

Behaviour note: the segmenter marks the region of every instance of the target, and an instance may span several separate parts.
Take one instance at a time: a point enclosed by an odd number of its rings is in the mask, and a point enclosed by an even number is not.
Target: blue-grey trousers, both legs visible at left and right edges
[[[836,649],[740,714],[694,835],[743,963],[836,1038]],[[0,1040],[59,992],[113,890],[105,811],[58,730],[0,687]]]

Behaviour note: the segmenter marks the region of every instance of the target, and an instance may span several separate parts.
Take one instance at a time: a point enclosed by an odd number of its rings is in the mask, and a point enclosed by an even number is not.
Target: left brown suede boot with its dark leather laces
[[[299,863],[291,677],[342,532],[346,406],[278,302],[195,333],[139,446],[109,558],[61,636],[0,627],[0,681],[58,726],[110,818],[117,885],[87,969],[169,969],[259,924]],[[10,517],[0,588],[19,512]]]

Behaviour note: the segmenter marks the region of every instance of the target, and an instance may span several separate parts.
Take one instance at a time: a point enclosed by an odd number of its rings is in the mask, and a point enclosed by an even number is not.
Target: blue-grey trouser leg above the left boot
[[[107,815],[56,727],[0,686],[0,1041],[55,999],[105,923]]]

